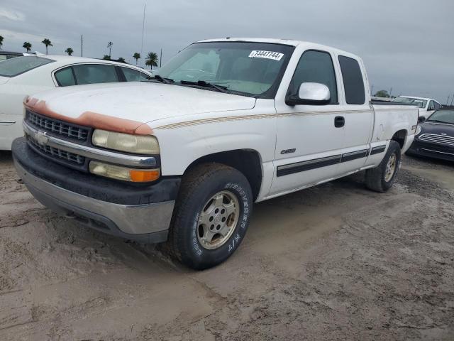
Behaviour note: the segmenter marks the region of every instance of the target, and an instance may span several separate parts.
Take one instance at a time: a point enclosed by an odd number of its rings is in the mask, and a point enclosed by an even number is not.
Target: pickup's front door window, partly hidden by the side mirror
[[[336,72],[334,72],[333,60],[329,53],[309,50],[301,55],[290,84],[290,91],[297,94],[299,86],[305,82],[326,85],[331,94],[329,104],[338,103]]]

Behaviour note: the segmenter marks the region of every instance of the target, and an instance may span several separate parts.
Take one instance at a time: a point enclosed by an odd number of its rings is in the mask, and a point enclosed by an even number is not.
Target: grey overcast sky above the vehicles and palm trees
[[[292,38],[360,55],[373,91],[433,97],[454,94],[454,0],[170,0],[148,1],[143,56],[162,48],[162,63],[196,40],[227,36]],[[380,3],[380,4],[379,4]],[[144,0],[1,0],[3,50],[49,53],[68,47],[135,63],[140,53]]]

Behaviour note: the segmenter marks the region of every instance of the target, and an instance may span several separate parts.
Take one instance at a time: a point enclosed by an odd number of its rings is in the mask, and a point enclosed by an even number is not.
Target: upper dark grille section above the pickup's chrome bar
[[[26,120],[36,128],[67,136],[71,139],[77,139],[79,141],[87,141],[88,139],[89,129],[35,114],[29,110],[26,112]]]

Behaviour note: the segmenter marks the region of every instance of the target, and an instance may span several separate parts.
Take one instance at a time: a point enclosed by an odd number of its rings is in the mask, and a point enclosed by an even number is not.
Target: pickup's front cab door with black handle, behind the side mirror
[[[335,55],[327,50],[305,50],[288,90],[281,92],[279,89],[275,177],[270,195],[328,180],[338,172],[344,129],[343,126],[336,127],[335,123],[343,113],[339,111],[339,80],[334,58]],[[331,93],[330,102],[326,105],[287,105],[285,94],[297,93],[303,82],[326,85]]]

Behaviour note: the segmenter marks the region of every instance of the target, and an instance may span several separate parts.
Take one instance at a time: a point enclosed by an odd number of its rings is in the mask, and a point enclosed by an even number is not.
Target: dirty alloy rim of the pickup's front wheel
[[[238,224],[240,204],[233,193],[216,193],[202,208],[197,222],[197,239],[205,249],[218,249],[233,234]]]

